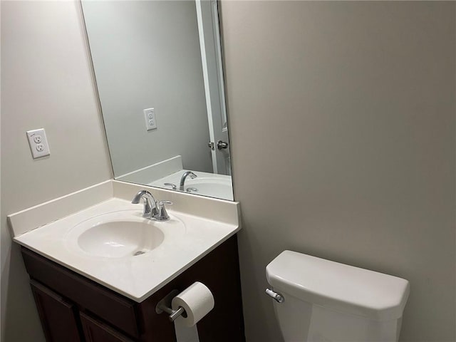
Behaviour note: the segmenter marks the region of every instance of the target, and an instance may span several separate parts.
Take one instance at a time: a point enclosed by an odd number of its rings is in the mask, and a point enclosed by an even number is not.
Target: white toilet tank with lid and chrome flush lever
[[[291,251],[266,278],[285,342],[398,341],[405,279]]]

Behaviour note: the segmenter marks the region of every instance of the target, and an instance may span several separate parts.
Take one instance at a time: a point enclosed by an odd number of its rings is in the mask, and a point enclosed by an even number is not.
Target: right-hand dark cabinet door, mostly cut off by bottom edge
[[[83,312],[80,315],[87,342],[133,342],[132,339],[123,336],[105,323],[101,323]]]

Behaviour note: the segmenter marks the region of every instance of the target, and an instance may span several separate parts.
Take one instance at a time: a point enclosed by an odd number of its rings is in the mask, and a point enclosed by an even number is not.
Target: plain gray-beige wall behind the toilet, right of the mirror
[[[284,249],[408,279],[401,341],[455,341],[455,3],[222,1],[222,29],[247,341],[281,341]]]

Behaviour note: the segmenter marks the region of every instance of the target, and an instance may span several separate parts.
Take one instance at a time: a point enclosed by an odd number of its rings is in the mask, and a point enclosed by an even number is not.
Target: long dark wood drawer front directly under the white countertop
[[[115,294],[114,291],[105,289],[94,281],[24,247],[22,256],[27,272],[32,279],[46,284],[62,296],[76,302],[78,306],[100,316],[125,333],[135,337],[140,336],[134,301]]]

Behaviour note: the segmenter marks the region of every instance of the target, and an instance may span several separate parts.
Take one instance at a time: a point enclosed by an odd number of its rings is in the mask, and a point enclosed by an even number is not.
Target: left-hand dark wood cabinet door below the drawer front
[[[77,311],[73,304],[37,281],[31,280],[30,286],[46,341],[81,342]]]

